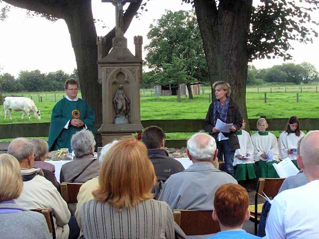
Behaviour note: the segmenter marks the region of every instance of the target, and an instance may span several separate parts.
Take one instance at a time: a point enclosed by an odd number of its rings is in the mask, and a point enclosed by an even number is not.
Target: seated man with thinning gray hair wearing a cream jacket
[[[23,179],[23,190],[16,203],[25,209],[51,208],[55,217],[56,238],[67,239],[70,212],[53,184],[38,174],[41,169],[32,169],[34,161],[32,143],[25,138],[16,138],[9,144],[8,153],[19,161]]]

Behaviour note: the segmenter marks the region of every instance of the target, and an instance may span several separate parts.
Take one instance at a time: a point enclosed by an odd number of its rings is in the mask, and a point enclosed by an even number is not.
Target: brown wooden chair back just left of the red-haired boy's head
[[[220,232],[219,223],[213,221],[213,211],[174,210],[174,220],[187,236]]]

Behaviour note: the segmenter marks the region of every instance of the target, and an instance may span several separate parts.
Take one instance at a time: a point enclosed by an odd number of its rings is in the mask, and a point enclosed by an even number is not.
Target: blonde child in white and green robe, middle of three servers
[[[268,123],[266,119],[257,120],[258,132],[251,136],[255,147],[255,169],[259,178],[278,178],[278,174],[272,164],[278,161],[277,138],[271,132],[266,131]]]

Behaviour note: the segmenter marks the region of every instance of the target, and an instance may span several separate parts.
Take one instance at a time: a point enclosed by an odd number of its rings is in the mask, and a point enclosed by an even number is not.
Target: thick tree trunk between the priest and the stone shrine
[[[68,7],[64,20],[68,26],[79,74],[82,97],[102,122],[102,87],[98,83],[96,29],[91,1],[78,1]]]

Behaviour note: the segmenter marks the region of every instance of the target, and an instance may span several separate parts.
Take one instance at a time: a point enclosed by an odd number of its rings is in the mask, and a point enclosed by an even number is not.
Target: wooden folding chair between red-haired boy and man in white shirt
[[[255,224],[255,235],[257,235],[257,227],[260,222],[261,212],[258,212],[258,198],[260,195],[266,194],[269,198],[274,198],[283,184],[284,178],[259,178],[257,190],[255,194],[254,210],[250,210],[249,220]]]

